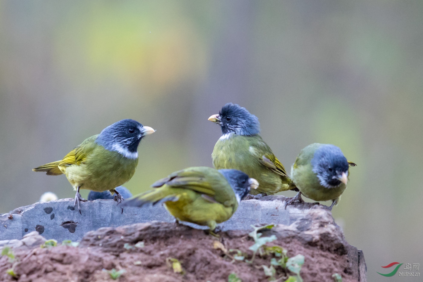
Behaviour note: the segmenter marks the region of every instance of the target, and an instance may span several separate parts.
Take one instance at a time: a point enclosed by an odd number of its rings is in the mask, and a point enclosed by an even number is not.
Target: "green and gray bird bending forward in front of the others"
[[[126,200],[123,205],[141,207],[163,203],[177,221],[205,225],[213,231],[227,221],[257,180],[235,169],[212,169],[206,166],[176,171],[155,182],[153,190]]]

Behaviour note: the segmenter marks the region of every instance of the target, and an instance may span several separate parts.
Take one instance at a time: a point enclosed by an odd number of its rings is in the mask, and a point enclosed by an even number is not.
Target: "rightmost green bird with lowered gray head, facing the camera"
[[[303,194],[315,201],[332,200],[332,210],[346,189],[349,166],[356,164],[347,161],[341,149],[335,145],[308,145],[301,150],[292,166],[291,179],[299,192],[286,206],[294,201],[304,202],[301,198]]]

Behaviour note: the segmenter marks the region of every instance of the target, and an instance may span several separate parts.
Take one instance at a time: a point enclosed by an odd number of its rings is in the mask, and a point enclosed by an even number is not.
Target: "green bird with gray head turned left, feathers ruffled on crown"
[[[222,136],[211,158],[215,169],[238,169],[255,178],[260,186],[250,194],[272,195],[295,189],[282,163],[260,135],[258,118],[239,105],[228,103],[209,121],[220,125]]]

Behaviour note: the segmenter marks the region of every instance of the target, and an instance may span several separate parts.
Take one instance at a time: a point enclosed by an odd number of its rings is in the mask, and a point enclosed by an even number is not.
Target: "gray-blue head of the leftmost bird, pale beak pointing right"
[[[133,119],[122,119],[104,128],[96,139],[96,143],[109,151],[116,151],[126,158],[138,158],[138,144],[141,139],[155,130],[143,126]]]

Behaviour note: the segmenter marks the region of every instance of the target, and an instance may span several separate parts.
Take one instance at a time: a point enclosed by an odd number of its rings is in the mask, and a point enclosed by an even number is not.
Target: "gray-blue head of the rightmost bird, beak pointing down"
[[[320,185],[326,188],[335,188],[348,181],[348,161],[335,145],[324,144],[317,148],[311,165]]]

